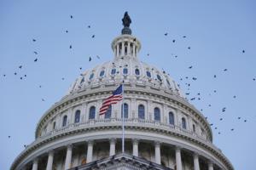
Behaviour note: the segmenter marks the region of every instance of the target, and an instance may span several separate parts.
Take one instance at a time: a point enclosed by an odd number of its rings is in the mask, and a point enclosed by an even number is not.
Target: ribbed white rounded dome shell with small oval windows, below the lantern
[[[135,39],[135,37],[129,35],[123,35],[113,40],[113,45],[118,42],[119,39],[126,38],[126,41]],[[140,43],[137,40],[140,49]],[[114,49],[114,48],[113,48]],[[160,71],[152,65],[143,63],[137,59],[137,56],[132,54],[117,55],[113,61],[108,61],[102,65],[97,65],[91,70],[84,71],[79,78],[73,82],[72,86],[68,90],[68,94],[81,92],[86,88],[104,86],[107,84],[116,84],[117,82],[124,81],[125,84],[141,84],[150,88],[158,88],[169,93],[178,95],[184,98],[180,88],[176,82],[165,71]]]

